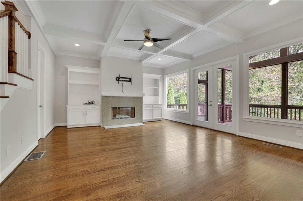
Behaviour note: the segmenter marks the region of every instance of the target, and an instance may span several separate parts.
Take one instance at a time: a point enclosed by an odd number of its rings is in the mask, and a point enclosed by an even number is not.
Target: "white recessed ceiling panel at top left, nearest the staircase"
[[[62,27],[106,34],[116,1],[38,1],[46,21]],[[115,17],[115,16],[113,16]],[[105,36],[106,37],[106,36]]]

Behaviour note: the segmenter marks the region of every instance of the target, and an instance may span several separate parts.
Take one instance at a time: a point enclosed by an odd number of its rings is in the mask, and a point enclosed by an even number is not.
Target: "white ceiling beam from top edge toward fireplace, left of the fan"
[[[133,8],[133,4],[131,2],[124,2],[124,4],[121,6],[119,14],[115,19],[111,31],[109,32],[108,39],[106,41],[105,47],[102,50],[102,53],[100,54],[100,57],[104,57],[106,55],[109,47],[111,46],[112,42],[115,40],[115,37],[120,31],[120,28],[122,27],[125,19],[127,18],[132,8]]]

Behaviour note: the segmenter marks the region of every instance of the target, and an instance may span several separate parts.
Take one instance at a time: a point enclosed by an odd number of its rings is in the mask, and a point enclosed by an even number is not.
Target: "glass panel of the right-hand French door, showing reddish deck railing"
[[[232,125],[232,67],[225,66],[217,70],[218,76],[218,112],[217,122]]]

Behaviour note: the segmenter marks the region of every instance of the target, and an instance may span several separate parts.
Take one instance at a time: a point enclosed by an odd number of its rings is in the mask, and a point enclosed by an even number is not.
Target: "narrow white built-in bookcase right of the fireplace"
[[[162,119],[163,105],[159,104],[161,75],[143,73],[143,122]]]

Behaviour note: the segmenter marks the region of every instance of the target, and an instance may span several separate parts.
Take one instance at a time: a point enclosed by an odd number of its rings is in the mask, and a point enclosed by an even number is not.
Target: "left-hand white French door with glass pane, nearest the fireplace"
[[[194,70],[194,125],[213,128],[212,70],[204,67]]]

